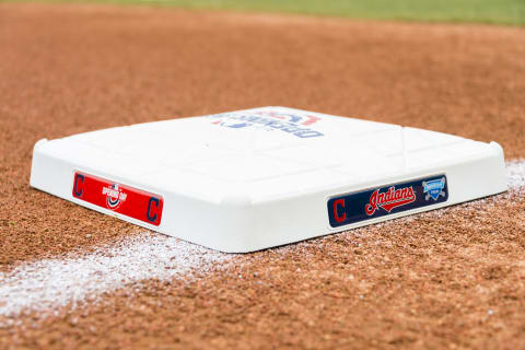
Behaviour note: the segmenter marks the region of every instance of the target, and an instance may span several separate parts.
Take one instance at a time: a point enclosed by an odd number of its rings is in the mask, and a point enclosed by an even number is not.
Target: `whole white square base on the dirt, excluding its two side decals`
[[[273,120],[273,121],[272,121]],[[163,197],[159,226],[72,196],[83,172]],[[332,228],[338,195],[445,174],[445,202]],[[450,135],[265,107],[39,140],[31,186],[230,253],[283,245],[506,190],[501,147]]]

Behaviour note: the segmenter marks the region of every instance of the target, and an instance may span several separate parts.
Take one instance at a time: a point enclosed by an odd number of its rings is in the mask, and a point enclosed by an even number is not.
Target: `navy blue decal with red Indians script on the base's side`
[[[334,196],[327,201],[328,220],[338,228],[447,200],[446,176],[435,175]]]

